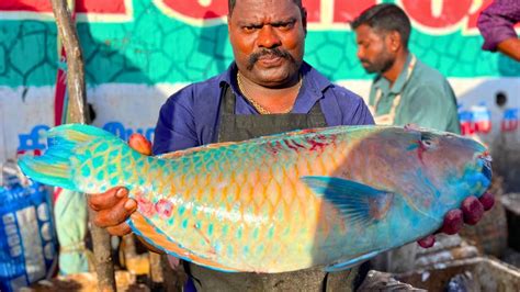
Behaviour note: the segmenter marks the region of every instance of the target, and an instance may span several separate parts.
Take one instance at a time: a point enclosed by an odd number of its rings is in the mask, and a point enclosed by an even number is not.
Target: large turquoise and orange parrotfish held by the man
[[[348,269],[437,231],[491,179],[482,144],[414,127],[336,126],[144,156],[98,127],[48,132],[29,177],[138,204],[128,223],[169,255],[221,271]]]

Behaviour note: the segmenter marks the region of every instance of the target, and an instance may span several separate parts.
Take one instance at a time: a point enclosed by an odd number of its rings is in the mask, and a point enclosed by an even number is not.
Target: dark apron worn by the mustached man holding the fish
[[[236,115],[236,98],[229,86],[222,89],[221,123],[216,142],[245,141],[282,132],[327,126],[319,102],[308,114]],[[227,273],[188,263],[197,291],[352,291],[357,268],[326,273],[323,268],[283,273]]]

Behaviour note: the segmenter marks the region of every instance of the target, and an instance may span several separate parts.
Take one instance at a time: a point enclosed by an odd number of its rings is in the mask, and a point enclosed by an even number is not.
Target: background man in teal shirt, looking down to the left
[[[376,124],[418,124],[460,133],[456,100],[448,80],[408,50],[411,25],[395,4],[374,5],[352,23],[358,57],[377,76],[370,101]]]

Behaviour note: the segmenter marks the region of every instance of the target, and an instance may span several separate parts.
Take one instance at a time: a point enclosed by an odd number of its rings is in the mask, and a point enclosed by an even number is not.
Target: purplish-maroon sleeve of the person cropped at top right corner
[[[478,16],[477,26],[484,37],[483,49],[495,52],[499,43],[517,37],[515,24],[519,21],[520,1],[494,1]]]

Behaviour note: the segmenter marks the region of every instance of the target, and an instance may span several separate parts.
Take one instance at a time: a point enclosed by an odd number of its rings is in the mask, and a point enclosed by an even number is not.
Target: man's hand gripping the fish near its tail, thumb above
[[[151,144],[143,135],[133,134],[128,141],[129,146],[144,155],[151,155]],[[126,220],[137,209],[137,202],[128,199],[128,190],[116,187],[104,193],[91,194],[88,199],[89,206],[95,211],[93,222],[95,225],[106,228],[116,236],[131,233]]]

